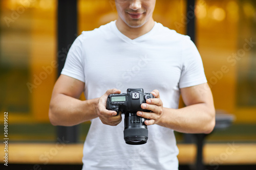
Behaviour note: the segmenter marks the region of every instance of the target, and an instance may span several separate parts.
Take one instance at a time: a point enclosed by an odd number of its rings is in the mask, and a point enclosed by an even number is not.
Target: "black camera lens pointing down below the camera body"
[[[146,119],[137,116],[136,112],[125,113],[124,140],[127,144],[144,144],[147,142],[148,130],[144,124]]]

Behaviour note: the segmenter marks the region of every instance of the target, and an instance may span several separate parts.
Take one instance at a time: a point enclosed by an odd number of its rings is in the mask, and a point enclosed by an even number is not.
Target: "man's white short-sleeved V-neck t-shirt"
[[[68,53],[61,74],[84,82],[86,99],[99,98],[110,88],[122,93],[127,88],[158,89],[163,106],[177,109],[180,88],[207,82],[200,54],[188,36],[155,22],[150,32],[132,40],[115,23],[82,32]],[[99,118],[91,122],[83,169],[178,169],[172,129],[148,126],[147,143],[129,145],[123,139],[123,119],[118,126],[104,125]]]

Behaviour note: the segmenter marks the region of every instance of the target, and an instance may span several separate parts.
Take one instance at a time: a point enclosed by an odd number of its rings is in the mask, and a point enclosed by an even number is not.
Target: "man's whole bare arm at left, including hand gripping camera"
[[[118,89],[107,90],[100,98],[81,101],[79,96],[84,83],[60,75],[52,92],[49,108],[49,118],[52,125],[74,126],[99,117],[105,125],[116,126],[121,122],[121,115],[115,111],[106,110],[106,99],[109,94],[120,93]]]

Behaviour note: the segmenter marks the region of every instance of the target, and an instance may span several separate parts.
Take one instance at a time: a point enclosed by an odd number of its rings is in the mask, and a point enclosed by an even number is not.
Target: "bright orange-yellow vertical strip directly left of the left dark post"
[[[31,111],[36,121],[49,122],[49,103],[57,77],[56,4],[47,10],[34,10],[33,14],[31,82],[35,77],[39,80],[31,93]]]

